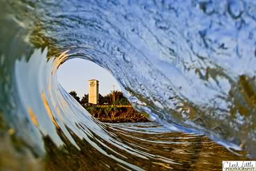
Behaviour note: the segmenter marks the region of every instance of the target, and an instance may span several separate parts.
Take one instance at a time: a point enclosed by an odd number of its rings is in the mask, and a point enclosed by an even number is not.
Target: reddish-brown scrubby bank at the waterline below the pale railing
[[[142,113],[135,111],[133,108],[91,106],[85,107],[85,109],[89,111],[95,118],[104,123],[135,123],[148,121],[148,119],[144,117]]]

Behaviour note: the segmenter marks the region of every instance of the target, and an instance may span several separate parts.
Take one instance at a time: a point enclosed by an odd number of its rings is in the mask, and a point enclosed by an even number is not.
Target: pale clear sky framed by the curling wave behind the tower
[[[121,91],[121,87],[110,73],[91,61],[71,59],[63,63],[58,69],[58,80],[67,92],[76,91],[77,96],[83,97],[88,93],[88,80],[99,80],[99,93],[106,95],[113,90]]]

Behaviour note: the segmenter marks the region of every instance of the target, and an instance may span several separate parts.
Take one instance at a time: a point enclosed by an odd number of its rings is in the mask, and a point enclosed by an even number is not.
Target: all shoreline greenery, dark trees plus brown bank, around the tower
[[[88,102],[88,94],[80,98],[75,91],[69,92],[92,116],[105,123],[134,123],[146,122],[148,119],[143,113],[135,111],[121,91],[115,91],[115,103],[113,92],[102,96],[99,94],[97,105]]]

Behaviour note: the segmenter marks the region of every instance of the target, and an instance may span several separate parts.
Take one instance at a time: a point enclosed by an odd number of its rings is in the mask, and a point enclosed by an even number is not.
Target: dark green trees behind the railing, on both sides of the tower
[[[88,101],[89,101],[89,95],[88,94],[84,94],[84,96],[81,98],[77,96],[77,93],[75,91],[71,91],[69,92],[69,94],[71,96],[73,96],[80,104],[82,104],[83,106],[88,105]],[[129,101],[126,99],[126,97],[124,97],[123,92],[121,91],[115,91],[115,104],[116,105],[130,105]],[[111,105],[113,104],[113,92],[102,96],[101,94],[99,94],[99,105]]]

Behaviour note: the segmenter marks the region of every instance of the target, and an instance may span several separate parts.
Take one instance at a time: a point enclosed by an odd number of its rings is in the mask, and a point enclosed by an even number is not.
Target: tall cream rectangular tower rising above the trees
[[[97,79],[88,80],[88,101],[92,104],[99,102],[99,81]]]

